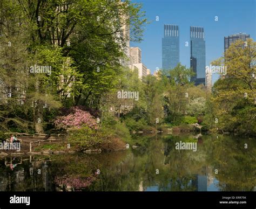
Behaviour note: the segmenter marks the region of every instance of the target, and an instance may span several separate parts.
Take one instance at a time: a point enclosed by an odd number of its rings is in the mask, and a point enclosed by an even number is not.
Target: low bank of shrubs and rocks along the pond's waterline
[[[220,134],[220,135],[235,135],[234,133],[221,133],[220,131],[215,133],[210,132],[208,129],[203,129],[203,126],[200,126],[198,123],[195,124],[180,124],[179,126],[170,126],[170,124],[161,124],[157,127],[150,127],[146,126],[143,127],[141,130],[128,130],[124,138],[120,138],[116,135],[116,137],[109,137],[108,140],[103,140],[103,138],[100,138],[100,140],[95,143],[95,141],[91,142],[91,144],[88,145],[88,142],[86,143],[84,141],[81,141],[80,143],[74,142],[70,143],[74,137],[74,131],[76,132],[75,138],[79,134],[84,135],[85,130],[72,130],[69,131],[66,135],[65,134],[53,134],[53,135],[46,135],[48,137],[48,140],[51,140],[47,142],[45,138],[47,137],[32,137],[28,134],[26,134],[26,137],[19,137],[21,138],[23,143],[23,149],[21,152],[17,152],[17,150],[2,150],[0,151],[0,157],[5,157],[8,155],[11,156],[26,156],[26,155],[56,155],[56,154],[75,154],[78,152],[83,152],[85,154],[100,154],[101,152],[109,152],[109,151],[124,151],[126,149],[132,148],[136,149],[140,147],[140,144],[137,143],[136,138],[144,137],[144,136],[156,136],[159,135],[172,135],[172,136],[180,136],[180,135],[186,135],[186,134],[192,134],[194,138],[200,138],[203,135],[212,135],[212,134]],[[78,133],[77,133],[78,132]],[[17,134],[17,133],[15,133]],[[117,134],[117,133],[116,133]],[[86,134],[86,136],[88,133]],[[113,135],[112,135],[113,136]],[[129,136],[129,137],[127,137]],[[100,137],[100,134],[97,136]],[[135,140],[134,140],[135,139]],[[29,143],[32,141],[32,143],[36,143],[33,145],[32,151],[29,151]],[[41,142],[41,144],[38,144],[38,142]],[[72,145],[74,146],[72,146]],[[128,147],[127,147],[128,145]]]

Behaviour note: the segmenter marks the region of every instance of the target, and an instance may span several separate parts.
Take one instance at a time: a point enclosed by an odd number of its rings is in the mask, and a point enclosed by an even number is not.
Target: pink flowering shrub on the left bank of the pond
[[[89,112],[82,110],[79,107],[72,107],[71,113],[66,116],[57,117],[54,123],[57,128],[67,130],[72,128],[80,129],[82,126],[97,129],[96,119],[93,118]]]

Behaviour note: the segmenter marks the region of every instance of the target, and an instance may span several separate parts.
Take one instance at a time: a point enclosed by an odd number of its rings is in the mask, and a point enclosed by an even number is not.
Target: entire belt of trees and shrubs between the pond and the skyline
[[[3,0],[1,6],[1,141],[14,132],[64,134],[36,151],[89,153],[136,148],[134,134],[158,131],[256,136],[253,39],[246,46],[238,40],[212,61],[226,71],[209,90],[195,86],[193,70],[180,63],[143,78],[124,64],[129,58],[121,49],[142,41],[149,24],[141,4],[38,1],[33,7]],[[32,140],[22,138],[22,150]]]

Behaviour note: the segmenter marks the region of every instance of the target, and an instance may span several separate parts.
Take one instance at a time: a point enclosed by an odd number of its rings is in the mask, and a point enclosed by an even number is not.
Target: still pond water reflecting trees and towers
[[[254,138],[157,135],[130,143],[138,148],[0,158],[0,191],[256,191]]]

